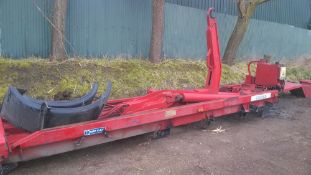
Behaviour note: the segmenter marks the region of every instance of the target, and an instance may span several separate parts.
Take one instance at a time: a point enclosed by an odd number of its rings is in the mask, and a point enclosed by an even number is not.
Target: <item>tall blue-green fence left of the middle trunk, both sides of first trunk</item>
[[[53,0],[0,0],[1,54],[48,57]],[[69,0],[67,51],[81,57],[146,56],[151,0]]]

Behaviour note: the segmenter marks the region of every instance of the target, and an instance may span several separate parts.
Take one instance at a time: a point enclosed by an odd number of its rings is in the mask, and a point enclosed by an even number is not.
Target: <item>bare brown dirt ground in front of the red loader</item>
[[[222,127],[224,132],[213,130]],[[137,136],[21,163],[12,175],[310,175],[311,99],[283,97],[263,118],[230,116],[207,129]]]

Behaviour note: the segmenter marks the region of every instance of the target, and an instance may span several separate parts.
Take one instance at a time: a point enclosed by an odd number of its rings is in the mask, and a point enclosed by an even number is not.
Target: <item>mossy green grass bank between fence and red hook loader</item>
[[[222,84],[240,83],[246,75],[246,62],[223,65]],[[206,77],[204,61],[166,60],[151,64],[141,59],[72,59],[49,62],[43,59],[12,60],[0,58],[0,98],[8,85],[27,89],[30,96],[53,99],[66,90],[81,96],[93,82],[103,92],[107,80],[113,84],[112,98],[142,95],[148,88],[202,88]],[[311,72],[300,67],[288,68],[291,81],[310,79]]]

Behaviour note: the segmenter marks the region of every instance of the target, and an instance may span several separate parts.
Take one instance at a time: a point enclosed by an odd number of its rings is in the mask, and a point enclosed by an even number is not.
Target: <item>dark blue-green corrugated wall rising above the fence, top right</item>
[[[236,0],[166,0],[166,2],[219,13],[237,15]],[[307,28],[311,20],[310,0],[271,0],[256,8],[254,19]]]

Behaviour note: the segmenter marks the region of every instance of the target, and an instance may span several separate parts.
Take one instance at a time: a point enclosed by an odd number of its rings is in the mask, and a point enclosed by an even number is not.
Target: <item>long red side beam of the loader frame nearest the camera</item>
[[[4,161],[5,160],[24,161],[41,156],[47,156],[50,155],[51,152],[61,153],[64,152],[62,149],[57,147],[58,150],[53,150],[53,146],[55,144],[56,145],[62,144],[62,142],[66,142],[66,144],[71,145],[70,147],[72,148],[72,150],[74,150],[80,148],[79,146],[80,144],[82,145],[90,144],[87,143],[87,139],[91,139],[93,137],[94,138],[99,137],[98,139],[100,139],[98,141],[93,142],[104,143],[107,141],[132,136],[132,134],[129,135],[126,134],[126,132],[129,130],[134,133],[135,132],[141,133],[142,130],[151,132],[165,129],[170,126],[180,126],[200,121],[203,119],[220,117],[226,114],[236,113],[243,110],[244,104],[259,107],[263,106],[265,103],[276,102],[278,91],[265,91],[264,93],[267,92],[271,93],[270,98],[254,102],[250,102],[251,97],[263,94],[263,92],[260,93],[254,92],[248,95],[240,95],[234,98],[223,98],[219,100],[182,105],[167,109],[159,109],[130,115],[121,115],[118,117],[106,118],[97,121],[90,121],[66,125],[62,127],[44,129],[41,131],[24,135],[23,138],[20,138],[15,142],[11,143],[9,145],[9,148],[10,150],[12,150],[12,152],[10,152],[9,158],[4,159]],[[155,129],[148,130],[145,128],[145,126],[151,125],[153,126],[152,128]],[[104,134],[100,134],[101,136],[84,135],[85,130],[93,128],[105,128],[105,130],[108,132],[108,135],[107,136],[105,136]],[[119,133],[117,138],[114,137],[115,133]],[[120,135],[120,133],[123,133],[123,135]],[[46,150],[47,155],[44,155],[45,152],[41,150],[41,147],[44,145],[50,145],[48,147],[45,147],[45,149],[52,149],[52,151]],[[35,152],[33,151],[31,151],[32,155],[28,155],[28,150],[35,150],[36,147],[38,147],[41,150],[39,154],[40,156],[34,154]]]

